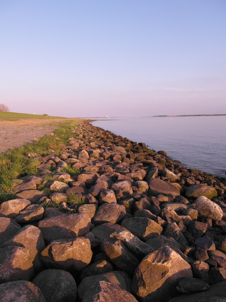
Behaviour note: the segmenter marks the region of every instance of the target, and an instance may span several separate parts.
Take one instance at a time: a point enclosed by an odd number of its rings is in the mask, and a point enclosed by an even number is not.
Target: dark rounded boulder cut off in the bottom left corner
[[[0,302],[47,302],[41,290],[28,281],[0,284]]]

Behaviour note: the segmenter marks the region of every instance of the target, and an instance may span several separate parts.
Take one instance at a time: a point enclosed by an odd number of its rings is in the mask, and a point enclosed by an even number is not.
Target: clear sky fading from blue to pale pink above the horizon
[[[0,103],[65,117],[226,114],[226,1],[0,0]]]

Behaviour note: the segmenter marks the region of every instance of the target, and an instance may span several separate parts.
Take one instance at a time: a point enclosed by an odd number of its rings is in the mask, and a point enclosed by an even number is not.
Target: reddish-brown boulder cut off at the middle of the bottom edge
[[[83,302],[137,302],[135,297],[119,286],[106,281],[96,282],[89,288],[83,297]]]

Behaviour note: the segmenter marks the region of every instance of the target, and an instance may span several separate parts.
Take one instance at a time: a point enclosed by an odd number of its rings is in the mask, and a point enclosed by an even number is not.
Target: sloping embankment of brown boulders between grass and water
[[[0,302],[225,301],[226,179],[85,121],[73,131],[0,205]]]

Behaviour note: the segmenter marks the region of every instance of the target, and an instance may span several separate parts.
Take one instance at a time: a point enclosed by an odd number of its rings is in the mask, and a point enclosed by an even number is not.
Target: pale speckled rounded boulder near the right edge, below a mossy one
[[[221,207],[219,207],[218,204],[215,204],[215,202],[209,200],[205,196],[199,196],[196,199],[195,208],[198,211],[199,216],[202,217],[221,220],[223,216]]]

